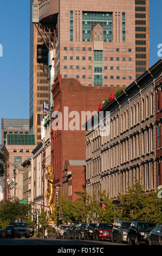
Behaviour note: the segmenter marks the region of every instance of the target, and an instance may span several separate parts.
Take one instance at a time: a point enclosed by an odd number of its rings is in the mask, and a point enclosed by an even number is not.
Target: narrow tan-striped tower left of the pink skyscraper
[[[36,144],[41,142],[41,106],[49,102],[48,50],[44,44],[44,33],[38,32],[32,23],[33,2],[30,0],[30,133],[35,134]]]

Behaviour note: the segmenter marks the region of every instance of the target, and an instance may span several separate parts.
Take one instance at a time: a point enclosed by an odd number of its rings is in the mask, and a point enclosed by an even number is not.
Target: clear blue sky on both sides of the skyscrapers
[[[0,5],[0,122],[2,117],[29,118],[29,2]],[[150,0],[150,66],[159,59],[157,46],[162,44],[161,10],[161,0]]]

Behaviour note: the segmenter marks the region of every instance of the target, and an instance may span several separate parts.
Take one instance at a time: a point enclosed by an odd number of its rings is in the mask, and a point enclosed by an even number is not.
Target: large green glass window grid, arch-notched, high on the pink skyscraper
[[[113,41],[113,14],[82,12],[82,41],[91,41],[91,25],[103,26],[103,41]]]

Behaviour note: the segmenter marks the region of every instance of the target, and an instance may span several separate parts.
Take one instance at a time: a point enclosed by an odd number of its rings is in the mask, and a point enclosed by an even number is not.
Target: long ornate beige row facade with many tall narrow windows
[[[109,114],[102,119],[105,136],[99,124],[86,129],[88,194],[95,191],[98,198],[99,189],[116,198],[136,180],[145,191],[156,190],[162,184],[161,72],[159,60],[102,109]],[[88,120],[87,127],[91,121],[93,124],[94,118]]]

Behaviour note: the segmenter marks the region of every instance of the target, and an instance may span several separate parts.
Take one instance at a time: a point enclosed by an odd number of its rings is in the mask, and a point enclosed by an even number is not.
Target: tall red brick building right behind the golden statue
[[[62,118],[57,115],[55,118],[51,118],[51,165],[54,167],[57,195],[61,192],[67,194],[67,198],[75,200],[76,194],[74,192],[83,190],[82,184],[85,184],[86,131],[82,130],[81,112],[98,111],[99,103],[106,100],[117,89],[118,87],[83,86],[79,80],[62,78],[61,75],[56,78],[51,92],[54,100],[54,111],[60,111]],[[76,113],[72,111],[79,113],[80,124],[77,130],[68,129],[68,122],[70,124],[70,121],[73,121],[73,114]],[[70,113],[68,121],[65,121],[67,119],[66,112]],[[61,121],[63,129],[53,130],[53,124],[60,126]],[[75,127],[77,125],[74,124]],[[76,160],[79,161],[78,165]],[[68,177],[69,174],[70,178]]]

